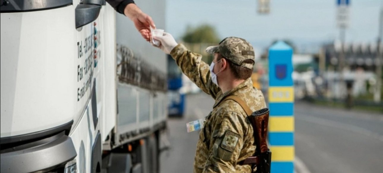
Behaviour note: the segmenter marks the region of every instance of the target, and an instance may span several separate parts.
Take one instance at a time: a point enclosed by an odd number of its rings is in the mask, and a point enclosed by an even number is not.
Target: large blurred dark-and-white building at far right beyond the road
[[[344,68],[339,69],[340,56],[344,52]],[[326,82],[327,97],[343,98],[346,84],[352,87],[354,96],[372,93],[376,84],[376,68],[381,65],[378,53],[383,44],[334,42],[322,46],[323,77]],[[342,73],[343,72],[343,76]],[[344,84],[340,82],[343,79]]]

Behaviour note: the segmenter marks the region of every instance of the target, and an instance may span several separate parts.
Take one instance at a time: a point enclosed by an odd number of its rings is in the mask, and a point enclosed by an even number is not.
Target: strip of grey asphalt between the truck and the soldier
[[[207,94],[187,95],[183,118],[168,120],[170,150],[160,157],[160,173],[192,173],[196,144],[200,131],[188,133],[186,123],[207,116],[214,100]]]

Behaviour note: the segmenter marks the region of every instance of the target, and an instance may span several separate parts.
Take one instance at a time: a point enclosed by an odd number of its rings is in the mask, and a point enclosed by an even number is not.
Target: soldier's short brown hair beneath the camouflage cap
[[[251,74],[253,73],[253,69],[236,65],[230,60],[228,60],[227,58],[223,57],[221,53],[218,53],[217,61],[221,60],[222,58],[224,58],[228,62],[230,70],[235,78],[246,80],[247,78],[251,77]],[[250,59],[244,60],[242,63],[252,63],[254,65],[254,61]]]

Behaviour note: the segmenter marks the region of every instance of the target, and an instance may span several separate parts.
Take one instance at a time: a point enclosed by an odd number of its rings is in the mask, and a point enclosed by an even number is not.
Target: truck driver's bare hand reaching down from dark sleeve
[[[141,33],[141,36],[149,42],[151,38],[150,27],[155,28],[152,18],[142,12],[134,3],[126,5],[124,14],[133,21],[134,26],[136,26],[138,32]]]

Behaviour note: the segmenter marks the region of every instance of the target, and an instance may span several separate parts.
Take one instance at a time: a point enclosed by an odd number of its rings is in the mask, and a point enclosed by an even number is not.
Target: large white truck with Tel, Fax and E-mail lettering
[[[165,54],[105,0],[0,5],[1,172],[157,172]]]

